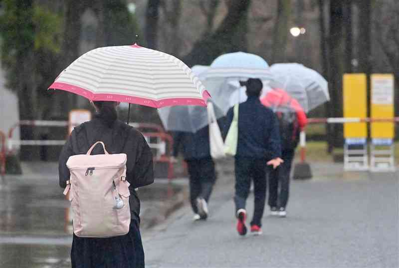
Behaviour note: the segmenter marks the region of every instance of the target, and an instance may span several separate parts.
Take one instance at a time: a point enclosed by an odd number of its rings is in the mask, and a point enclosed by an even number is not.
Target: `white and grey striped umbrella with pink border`
[[[137,44],[93,49],[72,62],[49,88],[89,100],[150,107],[206,106],[209,93],[180,59]]]

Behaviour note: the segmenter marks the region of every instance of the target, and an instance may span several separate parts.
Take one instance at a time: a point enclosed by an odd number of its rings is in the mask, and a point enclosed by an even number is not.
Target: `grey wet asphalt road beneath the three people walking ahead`
[[[233,183],[219,185],[208,221],[193,223],[186,208],[146,237],[147,267],[398,268],[399,173],[341,168],[317,166],[314,179],[293,181],[288,217],[266,207],[259,237],[237,235]]]

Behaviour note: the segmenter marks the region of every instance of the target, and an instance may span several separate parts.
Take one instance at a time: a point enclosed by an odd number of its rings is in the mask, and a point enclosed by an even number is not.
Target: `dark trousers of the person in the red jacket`
[[[282,152],[282,163],[277,169],[268,168],[269,177],[269,206],[285,208],[288,203],[290,173],[292,160],[294,159],[294,150],[284,150]]]

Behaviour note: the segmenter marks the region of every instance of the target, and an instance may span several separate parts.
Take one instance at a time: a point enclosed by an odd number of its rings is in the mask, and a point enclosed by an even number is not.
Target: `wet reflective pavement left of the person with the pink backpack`
[[[70,267],[61,190],[54,176],[0,181],[0,268]]]

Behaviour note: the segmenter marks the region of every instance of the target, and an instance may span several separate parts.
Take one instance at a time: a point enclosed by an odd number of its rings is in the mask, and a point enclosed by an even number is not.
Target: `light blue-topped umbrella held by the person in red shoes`
[[[239,80],[260,78],[264,86],[271,80],[269,65],[260,56],[244,52],[227,53],[213,60],[210,67],[199,74],[212,102],[225,114],[236,103],[246,100],[245,88]]]

